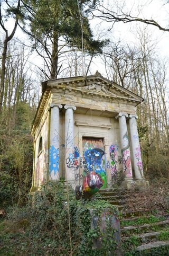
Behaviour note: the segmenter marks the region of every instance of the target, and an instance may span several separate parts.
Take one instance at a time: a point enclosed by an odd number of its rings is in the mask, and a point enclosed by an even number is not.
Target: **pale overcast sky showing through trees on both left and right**
[[[116,1],[105,0],[104,4],[114,4],[114,10],[116,10]],[[154,19],[159,22],[163,27],[167,27],[169,24],[169,4],[165,4],[165,0],[126,0],[126,1],[117,1],[118,6],[125,6],[124,10],[129,10],[131,15],[142,17],[144,19]],[[109,7],[110,8],[110,7]],[[10,20],[8,22],[8,27],[13,27],[13,22]],[[169,59],[169,32],[160,31],[158,28],[155,28],[153,25],[145,25],[139,22],[131,22],[124,24],[122,22],[115,23],[111,31],[106,32],[106,29],[111,27],[110,23],[101,22],[98,19],[91,20],[91,27],[95,34],[98,33],[98,30],[104,31],[104,35],[107,38],[110,38],[111,41],[123,41],[124,45],[134,46],[137,43],[138,32],[140,29],[147,27],[147,31],[152,34],[152,39],[158,41],[156,48],[156,55],[162,58]],[[99,28],[99,29],[98,29]],[[1,36],[3,31],[1,29]],[[25,39],[27,43],[26,36],[22,33],[20,28],[17,29],[15,37],[18,39]],[[37,57],[37,54],[31,57],[30,61],[37,66],[43,65],[43,60]],[[99,70],[102,75],[106,75],[104,66],[101,65],[101,60],[97,57],[93,59],[92,64],[92,73],[95,73],[96,70]]]

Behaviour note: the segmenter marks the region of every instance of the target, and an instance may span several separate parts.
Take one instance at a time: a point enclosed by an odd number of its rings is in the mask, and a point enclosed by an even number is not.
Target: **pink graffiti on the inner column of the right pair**
[[[126,134],[123,136],[122,146],[123,148],[121,149],[121,153],[122,153],[122,164],[123,164],[124,174],[127,178],[130,178],[132,177],[132,165],[131,165],[127,131],[126,131]]]

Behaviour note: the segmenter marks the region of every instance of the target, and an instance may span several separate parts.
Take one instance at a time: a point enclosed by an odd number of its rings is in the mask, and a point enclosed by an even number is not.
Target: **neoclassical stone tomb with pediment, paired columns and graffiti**
[[[98,72],[43,82],[32,127],[31,191],[61,178],[74,188],[84,170],[99,173],[103,188],[122,170],[125,188],[145,183],[135,112],[142,101]]]

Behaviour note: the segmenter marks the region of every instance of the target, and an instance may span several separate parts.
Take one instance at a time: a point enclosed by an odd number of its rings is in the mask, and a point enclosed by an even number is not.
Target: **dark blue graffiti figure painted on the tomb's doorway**
[[[105,152],[100,148],[88,149],[85,151],[85,169],[88,172],[96,171],[97,173],[105,172],[102,169],[101,161]]]

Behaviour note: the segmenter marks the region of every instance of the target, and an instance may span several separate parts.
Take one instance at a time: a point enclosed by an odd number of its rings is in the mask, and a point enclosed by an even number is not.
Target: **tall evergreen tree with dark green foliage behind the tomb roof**
[[[98,1],[91,0],[57,0],[32,1],[25,0],[26,19],[30,30],[24,31],[31,37],[37,53],[43,57],[50,72],[50,78],[56,78],[59,73],[58,59],[65,51],[84,49],[90,55],[102,52],[107,40],[95,40],[90,28],[88,15],[90,8]],[[61,66],[60,66],[61,67]],[[45,73],[45,75],[47,75]]]

